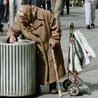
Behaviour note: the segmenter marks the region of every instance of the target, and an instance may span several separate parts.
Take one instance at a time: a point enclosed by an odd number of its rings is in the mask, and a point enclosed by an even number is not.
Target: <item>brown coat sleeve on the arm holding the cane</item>
[[[49,13],[48,19],[51,31],[50,41],[60,42],[62,32],[58,20],[54,18],[54,15],[51,12]]]

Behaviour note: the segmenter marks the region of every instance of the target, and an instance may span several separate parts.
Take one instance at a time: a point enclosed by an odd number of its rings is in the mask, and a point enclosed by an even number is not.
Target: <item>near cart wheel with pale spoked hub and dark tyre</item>
[[[69,87],[68,87],[68,93],[70,94],[70,96],[76,96],[79,94],[79,87],[76,85],[76,84],[71,84]]]

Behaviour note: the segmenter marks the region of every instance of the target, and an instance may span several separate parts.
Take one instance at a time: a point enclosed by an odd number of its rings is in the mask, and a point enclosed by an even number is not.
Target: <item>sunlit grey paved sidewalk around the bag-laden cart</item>
[[[66,9],[65,9],[66,12]],[[86,37],[88,43],[94,49],[96,53],[96,59],[92,59],[90,65],[85,65],[82,73],[79,77],[85,81],[86,85],[84,88],[80,89],[78,96],[70,96],[69,93],[63,88],[63,81],[68,78],[66,75],[62,80],[60,80],[60,86],[62,91],[62,98],[98,98],[98,9],[96,10],[96,20],[94,29],[87,30],[85,25],[85,16],[83,7],[71,7],[70,15],[64,14],[60,16],[61,19],[61,29],[63,32],[61,45],[64,55],[65,68],[67,64],[67,54],[68,54],[68,40],[69,40],[69,24],[74,23],[75,30],[80,30]],[[0,40],[5,38],[6,31],[8,29],[7,23],[4,26],[4,33],[0,36]],[[91,95],[87,94],[84,90],[90,89]],[[42,94],[37,98],[59,98],[58,94],[49,94],[48,85],[41,86]]]

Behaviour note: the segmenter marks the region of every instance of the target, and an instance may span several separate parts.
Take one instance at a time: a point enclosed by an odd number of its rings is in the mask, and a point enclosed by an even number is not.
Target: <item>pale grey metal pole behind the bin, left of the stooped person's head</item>
[[[15,12],[14,0],[9,0],[9,26],[12,26],[15,22],[14,12]]]

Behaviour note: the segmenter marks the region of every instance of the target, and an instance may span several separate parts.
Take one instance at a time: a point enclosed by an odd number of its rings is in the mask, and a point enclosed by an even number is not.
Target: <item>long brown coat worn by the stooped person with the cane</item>
[[[28,31],[28,26],[30,24],[22,23],[21,19],[18,17],[16,23],[10,27],[7,32],[7,39],[11,35],[17,37],[22,33],[25,39],[36,42],[37,81],[39,81],[40,84],[50,84],[56,81],[56,74],[49,41],[55,41],[57,43],[54,51],[59,79],[65,76],[64,60],[60,45],[62,33],[57,20],[50,11],[32,6],[32,10],[35,9],[37,9],[37,19],[33,24],[34,29]]]

